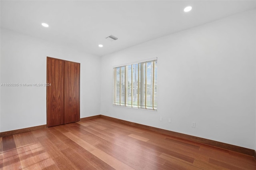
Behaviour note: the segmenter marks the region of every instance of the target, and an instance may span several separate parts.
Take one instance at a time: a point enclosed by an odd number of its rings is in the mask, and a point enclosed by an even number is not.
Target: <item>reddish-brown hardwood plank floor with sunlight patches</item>
[[[256,170],[253,156],[102,118],[0,137],[0,169]]]

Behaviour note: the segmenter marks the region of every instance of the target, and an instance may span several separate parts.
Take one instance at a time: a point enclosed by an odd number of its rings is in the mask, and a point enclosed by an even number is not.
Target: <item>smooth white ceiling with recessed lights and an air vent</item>
[[[256,1],[1,0],[0,6],[2,28],[102,56],[256,8]],[[192,6],[188,13],[183,12],[186,6]],[[105,39],[111,34],[118,40]]]

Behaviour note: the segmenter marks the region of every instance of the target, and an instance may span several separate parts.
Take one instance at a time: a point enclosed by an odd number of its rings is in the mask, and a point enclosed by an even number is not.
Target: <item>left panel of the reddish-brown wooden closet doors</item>
[[[47,57],[47,126],[64,124],[64,61]]]

